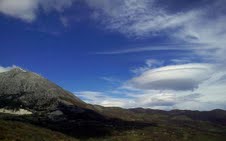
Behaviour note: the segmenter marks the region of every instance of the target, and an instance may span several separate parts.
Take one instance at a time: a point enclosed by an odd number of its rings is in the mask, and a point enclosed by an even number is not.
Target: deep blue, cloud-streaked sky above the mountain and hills
[[[85,102],[226,109],[225,0],[0,0],[0,73]]]

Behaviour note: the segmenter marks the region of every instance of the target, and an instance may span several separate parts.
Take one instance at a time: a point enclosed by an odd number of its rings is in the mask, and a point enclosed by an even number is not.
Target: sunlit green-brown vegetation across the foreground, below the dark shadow
[[[160,116],[161,117],[161,116]],[[143,128],[108,128],[110,135],[71,137],[57,131],[22,122],[18,116],[0,114],[0,140],[3,141],[225,141],[226,126],[195,121],[186,116],[158,121]],[[18,119],[18,121],[15,121]],[[157,119],[156,119],[157,121]],[[87,129],[88,131],[88,129]],[[95,132],[95,128],[93,129]],[[85,134],[85,133],[84,133]]]

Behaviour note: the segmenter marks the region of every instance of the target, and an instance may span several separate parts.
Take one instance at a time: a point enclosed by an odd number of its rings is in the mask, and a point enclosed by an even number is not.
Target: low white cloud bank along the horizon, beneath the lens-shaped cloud
[[[183,109],[184,107],[180,107],[181,104],[190,102],[198,103],[197,99],[201,97],[200,94],[180,94],[180,96],[177,96],[177,94],[172,92],[160,92],[155,90],[140,91],[139,94],[135,94],[131,91],[130,93],[127,93],[128,96],[126,98],[116,98],[112,95],[112,93],[111,95],[106,95],[107,93],[108,92],[82,91],[76,92],[75,94],[85,102],[105,107],[144,107],[163,110],[172,110],[175,108]],[[189,109],[191,106],[187,106],[186,108]],[[197,110],[194,107],[192,108]]]

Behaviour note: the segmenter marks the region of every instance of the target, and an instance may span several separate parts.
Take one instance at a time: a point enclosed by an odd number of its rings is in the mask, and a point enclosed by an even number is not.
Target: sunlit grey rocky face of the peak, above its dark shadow
[[[21,68],[0,73],[0,108],[42,112],[57,110],[62,104],[86,105],[72,93],[36,73]]]

